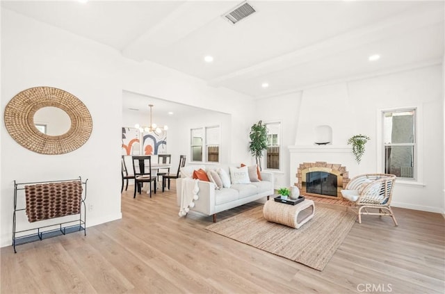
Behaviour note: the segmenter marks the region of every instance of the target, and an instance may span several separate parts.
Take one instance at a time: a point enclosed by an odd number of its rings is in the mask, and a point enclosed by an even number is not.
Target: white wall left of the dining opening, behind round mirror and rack
[[[122,86],[115,75],[118,57],[118,52],[108,47],[8,10],[1,11],[2,112],[18,92],[51,86],[83,101],[93,123],[85,145],[56,156],[37,154],[18,145],[2,124],[1,246],[11,243],[14,180],[48,181],[81,176],[88,179],[87,205],[93,205],[87,225],[121,218],[118,159]]]

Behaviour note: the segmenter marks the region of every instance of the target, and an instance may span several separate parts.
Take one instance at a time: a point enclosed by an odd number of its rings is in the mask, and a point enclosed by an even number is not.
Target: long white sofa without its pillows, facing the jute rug
[[[223,168],[229,174],[230,165],[208,165],[205,170],[217,170]],[[232,165],[235,166],[235,165]],[[230,175],[230,174],[229,174]],[[230,188],[216,190],[214,183],[199,181],[200,188],[197,195],[199,199],[195,201],[192,211],[213,215],[213,222],[216,222],[216,213],[233,209],[263,197],[268,197],[274,193],[274,177],[272,172],[261,172],[261,181],[251,183],[234,183]],[[176,180],[177,204],[181,202],[181,184],[183,177]]]

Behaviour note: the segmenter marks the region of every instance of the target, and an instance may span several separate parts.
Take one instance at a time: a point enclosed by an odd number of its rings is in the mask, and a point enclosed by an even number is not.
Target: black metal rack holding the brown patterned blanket
[[[65,222],[57,222],[55,224],[48,224],[42,227],[35,227],[33,229],[22,229],[17,231],[17,213],[20,211],[26,211],[25,207],[20,206],[17,208],[17,197],[25,197],[25,186],[27,185],[39,185],[39,184],[49,184],[49,183],[65,183],[70,181],[79,181],[82,187],[82,194],[80,198],[80,210],[79,213],[72,215],[63,215],[62,218],[70,218],[74,217],[74,215],[78,215],[79,218],[75,220],[67,220]],[[56,237],[60,235],[74,233],[76,231],[84,232],[84,236],[86,236],[86,181],[82,181],[81,177],[77,179],[66,179],[66,180],[58,180],[58,181],[37,181],[30,183],[16,183],[14,181],[14,213],[13,213],[13,247],[14,253],[17,253],[15,247],[18,245],[23,245],[26,243],[31,243],[38,240],[44,240],[51,237]],[[24,198],[23,198],[24,199]],[[26,203],[26,202],[24,202]],[[60,217],[56,217],[60,218]],[[56,219],[53,218],[53,219]],[[42,220],[38,220],[40,222]],[[31,223],[31,222],[29,222]]]

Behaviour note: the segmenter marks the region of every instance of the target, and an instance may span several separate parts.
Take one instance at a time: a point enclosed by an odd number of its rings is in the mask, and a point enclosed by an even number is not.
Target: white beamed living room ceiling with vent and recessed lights
[[[1,1],[1,7],[256,99],[439,63],[444,1]],[[211,55],[213,63],[204,63]],[[371,54],[380,60],[370,62]],[[269,83],[261,88],[261,83]]]

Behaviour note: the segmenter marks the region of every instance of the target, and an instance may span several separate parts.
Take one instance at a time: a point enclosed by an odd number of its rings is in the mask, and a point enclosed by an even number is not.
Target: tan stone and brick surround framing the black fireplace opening
[[[334,174],[337,177],[337,196],[320,195],[314,193],[307,193],[306,191],[306,174],[309,172],[327,172],[329,174]],[[337,163],[326,163],[325,161],[317,161],[314,163],[300,163],[297,170],[297,182],[295,186],[300,189],[302,195],[327,197],[334,199],[343,199],[341,196],[341,190],[346,188],[346,185],[350,181],[349,173],[345,166]]]

